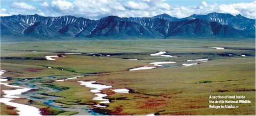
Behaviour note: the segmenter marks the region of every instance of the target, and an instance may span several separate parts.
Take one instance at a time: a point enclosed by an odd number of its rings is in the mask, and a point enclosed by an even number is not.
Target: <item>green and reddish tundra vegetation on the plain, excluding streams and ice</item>
[[[109,94],[106,98],[111,100],[111,103],[107,104],[109,106],[102,109],[109,111],[111,115],[255,115],[255,40],[6,42],[1,43],[1,50],[1,70],[7,70],[3,76],[13,79],[9,83],[18,78],[37,78],[26,82],[40,82],[43,83],[40,86],[60,90],[44,94],[62,96],[62,99],[54,102],[65,104],[67,107],[74,104],[99,103],[100,101],[92,100],[96,95],[90,92],[90,88],[77,83],[97,81],[111,85],[111,89],[128,88],[132,92],[114,93],[110,89],[102,91]],[[167,51],[167,54],[178,58],[150,56],[157,51]],[[110,56],[66,54],[67,57],[54,57],[55,61],[38,60],[44,59],[46,55],[64,52],[102,53]],[[246,57],[242,57],[242,54]],[[129,58],[139,60],[128,60]],[[182,64],[189,63],[187,60],[195,59],[209,61],[181,67]],[[177,63],[152,70],[128,71],[140,66],[153,66],[149,63],[161,61]],[[95,72],[104,73],[54,82],[57,79]],[[239,108],[234,109],[213,109],[209,108],[209,95],[244,95],[246,100],[251,100],[252,103],[239,104]],[[56,109],[54,112],[59,115],[77,114],[59,112]]]

